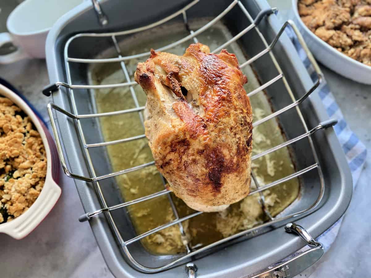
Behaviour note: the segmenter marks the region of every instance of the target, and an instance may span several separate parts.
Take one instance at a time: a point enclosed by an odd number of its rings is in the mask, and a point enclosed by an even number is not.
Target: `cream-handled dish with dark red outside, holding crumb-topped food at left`
[[[30,117],[40,133],[46,151],[46,178],[39,197],[24,214],[10,222],[0,224],[0,232],[8,234],[15,239],[21,239],[32,232],[43,221],[58,201],[62,191],[55,181],[59,180],[60,163],[52,136],[30,107],[16,93],[1,84],[0,95],[11,99]]]

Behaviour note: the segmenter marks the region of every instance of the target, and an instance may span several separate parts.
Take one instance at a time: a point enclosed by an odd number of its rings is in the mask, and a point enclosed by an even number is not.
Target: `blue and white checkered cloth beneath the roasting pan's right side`
[[[296,39],[295,34],[291,29],[286,29],[286,33],[290,37],[292,43],[294,44],[296,51],[298,52],[300,58],[302,59],[304,66],[309,72],[313,82],[317,81],[317,75],[311,62],[305,54],[305,51],[301,47],[299,41]],[[353,178],[353,189],[357,185],[358,178],[361,175],[363,169],[367,149],[365,145],[358,139],[357,135],[352,132],[349,128],[347,122],[344,119],[343,114],[335,101],[334,96],[332,95],[329,86],[326,83],[326,80],[323,81],[321,87],[313,93],[318,93],[322,99],[327,114],[331,118],[338,119],[338,123],[334,126],[336,136],[339,139],[339,142],[344,150],[345,156],[348,161],[349,168],[352,172]],[[317,240],[320,240],[323,244],[324,250],[327,251],[331,246],[332,242],[335,241],[336,236],[338,235],[339,228],[341,225],[343,217],[341,217],[334,225],[332,225],[327,231],[320,235]]]

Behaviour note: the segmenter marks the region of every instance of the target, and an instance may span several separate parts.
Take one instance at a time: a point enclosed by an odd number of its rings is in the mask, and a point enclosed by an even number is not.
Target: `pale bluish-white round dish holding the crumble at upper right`
[[[347,55],[339,52],[334,47],[325,43],[306,27],[299,16],[298,0],[292,0],[292,9],[295,14],[294,21],[300,33],[311,50],[313,56],[334,72],[359,83],[371,85],[371,66],[367,66]]]

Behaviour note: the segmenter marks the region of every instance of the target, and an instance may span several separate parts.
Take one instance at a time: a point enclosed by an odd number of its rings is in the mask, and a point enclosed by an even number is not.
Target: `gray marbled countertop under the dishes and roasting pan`
[[[279,2],[287,5],[288,1]],[[348,124],[370,150],[371,86],[352,82],[323,66],[321,69]],[[44,60],[0,65],[0,76],[21,90],[47,119],[46,104],[51,99],[40,93],[49,83]],[[369,155],[334,244],[298,277],[363,277],[369,273],[370,163]],[[55,208],[29,236],[17,241],[0,234],[1,277],[112,277],[88,222],[77,220],[83,209],[72,179],[63,175],[61,187],[62,196]]]

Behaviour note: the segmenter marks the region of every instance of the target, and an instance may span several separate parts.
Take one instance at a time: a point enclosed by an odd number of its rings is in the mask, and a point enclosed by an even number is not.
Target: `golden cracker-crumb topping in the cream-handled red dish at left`
[[[46,153],[31,119],[0,97],[0,223],[23,214],[45,183]]]

